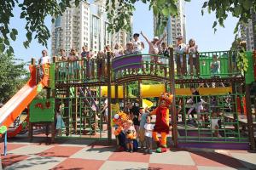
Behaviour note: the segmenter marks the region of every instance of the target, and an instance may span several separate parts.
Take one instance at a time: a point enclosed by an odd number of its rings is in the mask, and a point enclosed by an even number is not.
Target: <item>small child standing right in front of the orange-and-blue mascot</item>
[[[127,152],[133,152],[133,140],[136,139],[136,131],[131,120],[127,120],[126,127],[124,129],[125,133],[125,143],[127,147]]]

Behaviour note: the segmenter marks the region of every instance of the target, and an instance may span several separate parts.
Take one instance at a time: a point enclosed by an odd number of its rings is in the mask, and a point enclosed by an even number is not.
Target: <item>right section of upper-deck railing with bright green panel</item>
[[[174,54],[176,78],[241,76],[236,51]]]

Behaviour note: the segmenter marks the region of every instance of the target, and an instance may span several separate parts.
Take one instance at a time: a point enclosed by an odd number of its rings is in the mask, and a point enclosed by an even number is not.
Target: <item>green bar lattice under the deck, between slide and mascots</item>
[[[106,139],[107,122],[104,120],[104,114],[98,110],[102,108],[103,100],[97,91],[84,91],[84,95],[78,88],[67,89],[67,94],[56,91],[56,102],[64,105],[62,118],[65,127],[62,129],[61,137],[83,137]],[[95,102],[96,101],[96,105]]]

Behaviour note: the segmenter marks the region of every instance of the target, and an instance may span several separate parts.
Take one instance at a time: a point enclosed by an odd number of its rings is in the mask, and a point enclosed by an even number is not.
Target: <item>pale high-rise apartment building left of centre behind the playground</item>
[[[110,33],[107,30],[108,25],[104,0],[94,3],[81,1],[78,7],[73,5],[72,8],[67,8],[52,24],[51,54],[59,54],[60,48],[65,48],[67,53],[71,48],[80,52],[84,45],[95,54],[106,45],[113,48],[115,43],[120,43],[125,47],[126,42],[130,41],[131,33]]]

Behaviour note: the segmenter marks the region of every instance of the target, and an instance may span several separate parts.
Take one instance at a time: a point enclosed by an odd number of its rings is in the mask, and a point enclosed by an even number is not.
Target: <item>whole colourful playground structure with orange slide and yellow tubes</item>
[[[87,137],[111,140],[113,114],[124,109],[128,101],[143,104],[143,99],[154,99],[162,92],[174,95],[172,114],[172,142],[175,146],[236,147],[245,149],[248,144],[255,150],[255,57],[247,52],[249,68],[242,74],[236,66],[236,52],[220,51],[195,54],[173,54],[170,56],[134,54],[112,59],[79,60],[73,62],[56,61],[44,65],[44,77],[38,81],[38,71],[32,62],[31,79],[0,109],[1,125],[9,127],[28,105],[29,137],[32,139],[33,126],[52,127],[55,137],[55,111],[64,105],[62,118],[65,127],[61,137]],[[212,57],[218,56],[219,71],[212,74]],[[151,63],[150,57],[158,57],[159,63]],[[253,71],[254,68],[254,71]],[[150,82],[151,84],[147,84]],[[153,84],[152,84],[153,83]],[[187,112],[191,84],[198,86],[204,99],[203,110],[194,114],[201,125],[191,125]],[[45,88],[47,99],[34,99]],[[254,93],[254,94],[253,94]],[[102,113],[103,95],[108,96],[108,117]],[[253,97],[254,95],[254,97]],[[250,99],[252,98],[252,99]],[[32,99],[34,99],[32,101]],[[121,104],[121,105],[120,105]],[[212,112],[218,112],[217,117]],[[253,117],[254,116],[254,117]],[[213,131],[212,120],[218,119],[218,136]],[[23,119],[24,120],[24,119]],[[50,125],[50,126],[49,126]],[[20,133],[22,123],[9,137]],[[217,145],[216,145],[217,144]],[[201,146],[201,147],[202,147]]]

